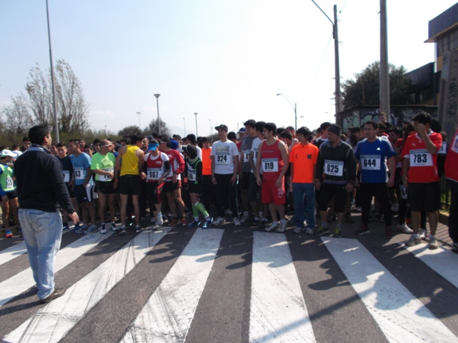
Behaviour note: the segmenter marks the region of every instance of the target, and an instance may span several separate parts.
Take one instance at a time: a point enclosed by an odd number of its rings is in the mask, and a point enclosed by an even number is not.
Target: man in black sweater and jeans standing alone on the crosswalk
[[[29,131],[32,146],[15,164],[19,200],[19,220],[40,303],[62,296],[65,289],[54,288],[54,256],[60,248],[62,218],[59,207],[78,222],[65,186],[62,166],[49,148],[52,139],[45,126]]]

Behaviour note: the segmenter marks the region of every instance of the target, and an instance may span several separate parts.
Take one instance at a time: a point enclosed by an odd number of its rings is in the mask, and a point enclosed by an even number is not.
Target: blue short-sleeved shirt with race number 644
[[[391,144],[380,138],[375,142],[367,139],[358,143],[355,158],[360,160],[361,182],[363,183],[387,183],[386,159],[395,156]]]

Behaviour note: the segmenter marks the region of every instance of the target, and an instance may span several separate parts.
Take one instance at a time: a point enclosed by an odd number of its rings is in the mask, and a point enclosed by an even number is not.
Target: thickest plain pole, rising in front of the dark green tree
[[[388,70],[388,34],[386,0],[380,0],[380,111],[390,119],[390,74]]]

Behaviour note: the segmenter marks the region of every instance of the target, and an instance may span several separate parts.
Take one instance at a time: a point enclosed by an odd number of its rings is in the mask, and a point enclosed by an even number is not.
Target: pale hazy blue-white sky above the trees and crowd
[[[339,14],[340,75],[379,59],[379,1],[316,0]],[[456,0],[388,0],[389,62],[434,61],[428,21]],[[332,26],[309,0],[49,0],[54,60],[81,81],[93,129],[145,127],[161,118],[173,133],[208,135],[248,119],[311,129],[333,121]],[[25,92],[29,69],[49,68],[45,0],[0,1],[0,106]],[[184,120],[183,120],[184,118]],[[214,132],[214,131],[213,131]]]

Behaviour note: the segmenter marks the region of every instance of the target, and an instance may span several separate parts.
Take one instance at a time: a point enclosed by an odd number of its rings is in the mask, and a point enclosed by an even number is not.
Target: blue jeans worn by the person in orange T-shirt
[[[315,227],[315,186],[313,183],[293,182],[294,223],[304,227],[307,212],[307,227]]]

